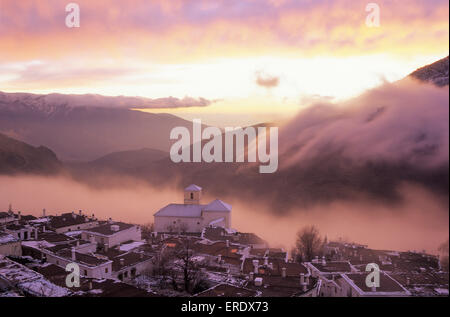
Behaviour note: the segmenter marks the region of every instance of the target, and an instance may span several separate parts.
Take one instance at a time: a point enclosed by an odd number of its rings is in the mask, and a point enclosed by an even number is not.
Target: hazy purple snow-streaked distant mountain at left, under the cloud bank
[[[172,128],[192,128],[189,121],[170,114],[130,110],[121,106],[129,100],[124,98],[0,93],[0,133],[47,146],[62,160],[94,160],[141,148],[168,152]]]

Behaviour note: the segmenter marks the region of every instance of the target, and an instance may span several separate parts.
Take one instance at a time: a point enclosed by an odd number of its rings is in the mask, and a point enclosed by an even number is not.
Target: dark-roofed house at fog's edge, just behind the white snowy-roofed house
[[[51,216],[49,224],[56,233],[64,233],[95,227],[98,225],[98,221],[93,216],[88,217],[83,215],[80,210],[78,214],[72,211],[71,213],[64,213],[61,216]]]

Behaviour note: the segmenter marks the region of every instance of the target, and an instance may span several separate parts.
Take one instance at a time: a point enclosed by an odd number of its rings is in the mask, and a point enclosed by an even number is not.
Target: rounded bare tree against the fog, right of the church
[[[302,261],[311,261],[314,256],[321,254],[322,246],[319,230],[314,225],[306,226],[297,233],[295,243],[297,259],[301,256]]]

